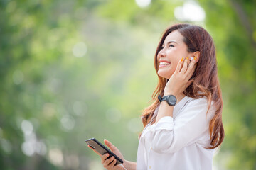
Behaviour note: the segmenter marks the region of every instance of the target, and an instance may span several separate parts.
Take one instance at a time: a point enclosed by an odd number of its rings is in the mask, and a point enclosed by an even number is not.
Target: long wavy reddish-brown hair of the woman
[[[209,124],[211,147],[208,147],[208,149],[213,149],[220,146],[224,139],[224,128],[222,123],[223,100],[218,81],[217,60],[213,38],[211,38],[210,34],[204,28],[188,23],[176,24],[167,28],[156,48],[154,57],[156,73],[158,72],[159,65],[157,62],[157,55],[161,50],[161,46],[164,43],[166,36],[174,30],[178,30],[179,33],[183,35],[183,42],[187,45],[188,52],[200,52],[196,70],[191,77],[194,81],[185,91],[183,91],[183,94],[191,98],[202,98],[206,96],[208,98],[208,111],[212,101],[214,101],[213,106],[215,108],[215,114]],[[164,95],[164,87],[166,86],[167,79],[160,76],[158,77],[159,82],[152,94],[152,101],[154,101],[154,103],[145,108],[142,113],[142,123],[144,124],[144,127],[149,123],[154,115],[154,111],[160,104],[157,96],[159,94],[161,94],[161,96]],[[155,121],[156,118],[153,118],[153,123]]]

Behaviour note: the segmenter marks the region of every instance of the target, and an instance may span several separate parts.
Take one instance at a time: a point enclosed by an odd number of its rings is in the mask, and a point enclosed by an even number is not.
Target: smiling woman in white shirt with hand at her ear
[[[223,101],[213,39],[200,26],[177,24],[167,28],[156,49],[159,77],[144,110],[137,163],[128,162],[109,141],[105,144],[124,160],[102,164],[106,169],[212,169],[215,148],[223,142]]]

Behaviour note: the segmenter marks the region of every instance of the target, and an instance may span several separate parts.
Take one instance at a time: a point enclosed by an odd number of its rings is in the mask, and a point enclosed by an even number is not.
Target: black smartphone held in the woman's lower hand
[[[87,143],[87,145],[92,147],[92,149],[95,149],[97,152],[99,152],[102,155],[108,153],[108,154],[110,154],[110,157],[114,156],[114,158],[117,159],[117,163],[115,165],[124,163],[122,161],[122,159],[117,157],[117,155],[115,155],[110,149],[105,147],[105,145],[103,145],[101,142],[99,142],[95,138],[85,140],[85,142]],[[110,158],[110,157],[108,157],[108,158]]]

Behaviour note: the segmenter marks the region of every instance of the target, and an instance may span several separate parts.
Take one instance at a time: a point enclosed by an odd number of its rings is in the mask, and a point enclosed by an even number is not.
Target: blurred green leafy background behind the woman
[[[136,161],[156,45],[180,22],[215,40],[225,140],[213,169],[256,169],[253,0],[1,0],[0,169],[103,169],[90,137]]]

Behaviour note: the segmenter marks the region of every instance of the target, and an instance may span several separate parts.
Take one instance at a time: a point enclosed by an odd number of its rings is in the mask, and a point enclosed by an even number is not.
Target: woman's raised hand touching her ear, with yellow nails
[[[193,79],[189,80],[193,72],[196,69],[196,60],[193,58],[186,57],[185,60],[181,59],[176,67],[174,74],[171,75],[171,78],[166,84],[164,89],[164,96],[174,95],[178,96],[186,90],[186,88],[193,82]]]

